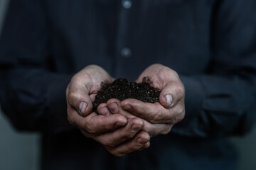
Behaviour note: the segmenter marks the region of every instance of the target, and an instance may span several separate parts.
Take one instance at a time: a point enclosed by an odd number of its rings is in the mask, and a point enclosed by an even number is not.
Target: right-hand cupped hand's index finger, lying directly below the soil
[[[171,123],[172,119],[176,116],[176,109],[174,111],[166,109],[158,102],[146,103],[129,98],[121,102],[121,107],[129,113],[153,124]]]

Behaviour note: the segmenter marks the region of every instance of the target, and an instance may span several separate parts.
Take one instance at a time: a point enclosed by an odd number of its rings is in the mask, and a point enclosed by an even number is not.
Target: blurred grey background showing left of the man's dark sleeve
[[[0,33],[8,3],[0,0]],[[0,170],[38,170],[39,145],[39,134],[16,132],[0,108]]]

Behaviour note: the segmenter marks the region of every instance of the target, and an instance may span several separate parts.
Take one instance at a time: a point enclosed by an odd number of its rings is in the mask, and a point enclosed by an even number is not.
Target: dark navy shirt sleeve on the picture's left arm
[[[10,1],[0,40],[1,108],[17,130],[72,130],[65,89],[71,74],[50,62],[44,1]]]

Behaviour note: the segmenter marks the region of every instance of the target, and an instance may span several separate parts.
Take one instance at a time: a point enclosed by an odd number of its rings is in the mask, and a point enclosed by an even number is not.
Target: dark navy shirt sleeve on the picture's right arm
[[[212,29],[207,73],[181,75],[186,116],[171,131],[178,135],[243,135],[255,124],[256,1],[218,1]]]

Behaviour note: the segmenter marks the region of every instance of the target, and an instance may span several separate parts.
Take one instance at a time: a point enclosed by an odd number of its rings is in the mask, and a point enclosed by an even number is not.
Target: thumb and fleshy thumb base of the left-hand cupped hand
[[[100,90],[100,84],[113,80],[102,67],[89,65],[71,79],[67,101],[80,115],[86,116],[92,112],[92,100]]]

